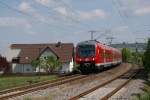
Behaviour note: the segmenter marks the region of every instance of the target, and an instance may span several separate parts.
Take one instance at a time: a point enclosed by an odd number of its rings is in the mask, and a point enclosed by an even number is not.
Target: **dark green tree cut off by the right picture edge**
[[[150,72],[150,39],[148,39],[147,49],[145,52],[145,68],[148,72]]]

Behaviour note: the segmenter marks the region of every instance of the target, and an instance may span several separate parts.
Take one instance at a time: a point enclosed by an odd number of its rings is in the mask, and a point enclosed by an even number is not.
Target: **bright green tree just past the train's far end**
[[[122,49],[122,60],[123,62],[129,62],[131,61],[131,51],[128,48],[123,48]]]

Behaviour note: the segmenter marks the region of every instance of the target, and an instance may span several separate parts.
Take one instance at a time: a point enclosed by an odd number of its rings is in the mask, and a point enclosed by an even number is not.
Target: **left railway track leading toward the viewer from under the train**
[[[23,87],[16,87],[12,89],[3,90],[3,91],[0,91],[0,100],[6,100],[8,98],[20,96],[29,92],[34,92],[34,91],[46,89],[49,87],[58,86],[58,85],[65,84],[70,81],[75,81],[75,80],[83,79],[86,77],[88,76],[78,74],[78,75],[62,77],[57,80],[45,81],[45,82],[35,83],[32,85],[27,85]]]

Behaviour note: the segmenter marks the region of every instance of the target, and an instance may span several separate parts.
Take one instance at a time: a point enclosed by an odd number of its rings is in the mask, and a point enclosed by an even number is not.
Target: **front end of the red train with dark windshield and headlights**
[[[81,72],[95,70],[96,43],[86,41],[79,43],[76,47],[76,64]]]

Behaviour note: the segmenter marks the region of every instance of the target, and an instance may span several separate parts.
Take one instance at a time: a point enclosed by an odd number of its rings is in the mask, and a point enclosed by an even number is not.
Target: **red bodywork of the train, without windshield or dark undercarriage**
[[[81,57],[78,52],[79,46],[89,44],[95,46],[95,55],[92,57]],[[90,40],[77,45],[75,60],[76,64],[91,62],[94,63],[95,66],[115,65],[122,62],[122,54],[115,48],[106,46],[98,41]]]

